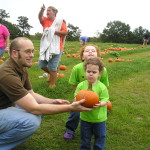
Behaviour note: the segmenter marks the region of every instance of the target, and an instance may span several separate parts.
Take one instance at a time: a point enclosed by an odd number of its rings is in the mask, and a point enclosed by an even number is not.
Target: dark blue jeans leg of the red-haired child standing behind
[[[70,112],[68,121],[66,122],[66,132],[74,134],[80,120],[80,112]]]

